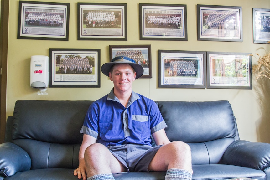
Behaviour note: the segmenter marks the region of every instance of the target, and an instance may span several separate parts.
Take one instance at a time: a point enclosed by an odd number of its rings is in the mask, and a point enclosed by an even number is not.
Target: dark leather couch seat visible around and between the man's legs
[[[266,180],[263,171],[248,167],[224,164],[194,165],[193,180],[226,180],[236,177]],[[18,172],[4,180],[78,180],[73,175],[74,169],[36,169]],[[166,172],[129,172],[114,174],[116,180],[164,180]]]

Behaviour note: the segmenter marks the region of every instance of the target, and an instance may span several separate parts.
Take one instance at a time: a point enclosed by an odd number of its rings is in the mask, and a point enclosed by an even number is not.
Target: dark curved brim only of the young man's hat
[[[117,61],[117,62],[109,62],[109,63],[105,63],[101,66],[101,72],[103,74],[105,74],[106,76],[109,77],[109,72],[111,71],[111,68],[113,65],[115,64],[129,64],[132,66],[132,68],[134,69],[134,71],[136,72],[136,78],[138,79],[139,77],[141,77],[143,75],[143,67],[139,64],[135,64],[135,63],[128,63],[128,62],[122,62],[122,61]]]

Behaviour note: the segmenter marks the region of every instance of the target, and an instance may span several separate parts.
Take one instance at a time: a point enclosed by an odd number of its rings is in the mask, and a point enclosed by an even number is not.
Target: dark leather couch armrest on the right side
[[[224,152],[221,163],[264,170],[270,166],[270,144],[234,141]]]

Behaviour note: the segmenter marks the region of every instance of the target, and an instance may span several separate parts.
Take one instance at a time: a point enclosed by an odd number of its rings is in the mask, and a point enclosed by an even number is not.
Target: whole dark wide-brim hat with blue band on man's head
[[[136,64],[136,62],[127,57],[127,56],[116,56],[111,60],[109,63],[105,63],[101,66],[101,71],[103,74],[106,76],[109,76],[109,72],[111,71],[111,68],[114,64],[119,64],[119,63],[124,63],[124,64],[129,64],[132,66],[134,71],[136,72],[136,79],[141,77],[143,75],[143,67],[139,64]]]

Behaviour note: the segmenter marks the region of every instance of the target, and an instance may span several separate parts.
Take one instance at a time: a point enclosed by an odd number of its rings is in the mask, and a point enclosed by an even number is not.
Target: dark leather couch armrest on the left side
[[[6,142],[0,144],[0,176],[10,177],[31,168],[31,159],[21,147]]]

